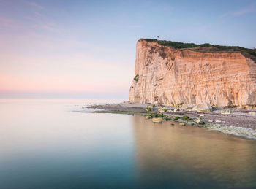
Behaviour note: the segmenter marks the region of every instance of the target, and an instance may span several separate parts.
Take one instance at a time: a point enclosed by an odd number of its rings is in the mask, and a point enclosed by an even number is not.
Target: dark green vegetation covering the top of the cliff
[[[209,43],[197,45],[195,43],[172,42],[172,41],[157,40],[157,39],[140,39],[140,40],[145,40],[146,42],[157,42],[159,45],[173,47],[176,49],[189,49],[189,50],[203,52],[203,53],[206,53],[206,52],[207,53],[222,53],[222,52],[241,53],[246,58],[251,58],[253,61],[256,62],[256,49],[249,49],[249,48],[239,47],[239,46],[211,45]]]

